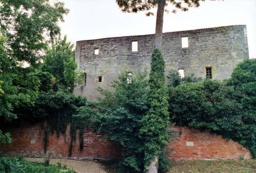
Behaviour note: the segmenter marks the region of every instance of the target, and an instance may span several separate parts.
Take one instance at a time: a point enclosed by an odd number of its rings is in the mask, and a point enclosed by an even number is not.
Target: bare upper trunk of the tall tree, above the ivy
[[[162,50],[163,43],[163,23],[164,23],[164,7],[166,0],[158,0],[156,13],[156,34],[155,34],[155,48]]]

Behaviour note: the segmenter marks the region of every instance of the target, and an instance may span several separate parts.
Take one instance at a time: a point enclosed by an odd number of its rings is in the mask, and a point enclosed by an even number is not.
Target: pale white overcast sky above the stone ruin
[[[154,34],[155,16],[123,13],[115,0],[60,0],[70,10],[62,35],[77,40]],[[168,7],[171,9],[171,6]],[[155,10],[153,10],[154,12]],[[250,57],[256,57],[256,0],[207,1],[187,12],[165,13],[164,32],[246,24]]]

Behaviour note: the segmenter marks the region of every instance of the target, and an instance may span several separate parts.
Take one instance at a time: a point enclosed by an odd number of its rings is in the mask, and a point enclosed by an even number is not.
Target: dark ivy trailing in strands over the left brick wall
[[[87,110],[90,110],[90,102],[86,98],[75,96],[66,90],[58,90],[57,92],[52,90],[47,93],[40,93],[35,106],[27,110],[30,112],[30,116],[25,117],[24,120],[29,122],[46,122],[44,133],[45,152],[47,151],[49,134],[56,133],[57,137],[60,134],[65,135],[67,125],[71,124],[69,149],[69,154],[71,155],[73,142],[76,141],[76,131],[79,130],[80,134],[83,134],[84,128],[89,126],[87,122],[89,122],[88,117],[91,112],[86,113]],[[28,112],[25,114],[28,114]],[[83,141],[80,140],[80,142]],[[81,146],[82,149],[83,145]]]

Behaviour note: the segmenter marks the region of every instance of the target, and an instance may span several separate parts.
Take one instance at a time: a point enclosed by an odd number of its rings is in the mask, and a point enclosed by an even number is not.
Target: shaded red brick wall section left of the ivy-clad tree
[[[0,153],[6,155],[22,155],[31,157],[44,156],[44,130],[41,125],[25,126],[23,128],[14,129],[12,135],[12,143],[9,145],[0,145]],[[49,145],[47,147],[47,155],[52,158],[70,158],[70,159],[113,159],[119,158],[120,150],[118,146],[109,143],[100,135],[94,134],[92,131],[84,131],[84,149],[79,151],[78,133],[77,140],[73,144],[73,152],[69,157],[70,144],[70,126],[66,130],[66,135],[56,134],[49,136]]]

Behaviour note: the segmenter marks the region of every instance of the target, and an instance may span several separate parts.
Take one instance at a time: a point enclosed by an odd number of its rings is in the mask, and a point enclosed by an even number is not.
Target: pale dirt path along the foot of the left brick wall
[[[44,162],[43,158],[24,158],[31,162]],[[101,163],[94,161],[80,161],[67,159],[50,159],[50,164],[60,162],[62,166],[67,166],[75,170],[77,173],[107,173]]]

